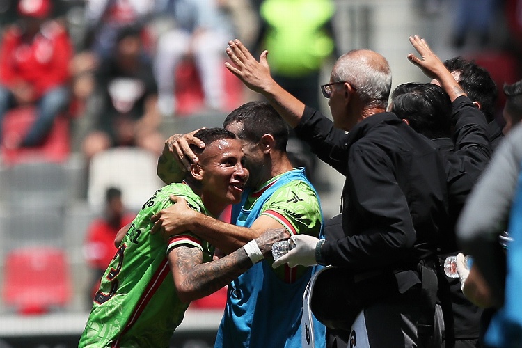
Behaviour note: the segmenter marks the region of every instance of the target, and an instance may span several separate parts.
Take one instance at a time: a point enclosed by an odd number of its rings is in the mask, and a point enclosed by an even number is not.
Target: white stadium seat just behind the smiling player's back
[[[132,212],[164,184],[156,175],[157,156],[141,148],[111,148],[97,153],[89,166],[87,200],[95,212],[101,212],[105,191],[117,187],[123,204]]]

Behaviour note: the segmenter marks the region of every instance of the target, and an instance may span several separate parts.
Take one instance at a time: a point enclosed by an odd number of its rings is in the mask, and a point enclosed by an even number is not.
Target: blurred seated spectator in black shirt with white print
[[[116,146],[139,146],[158,154],[163,149],[157,86],[152,66],[141,54],[139,31],[134,26],[122,29],[115,52],[100,63],[95,93],[101,102],[93,111],[93,131],[82,144],[88,159]]]

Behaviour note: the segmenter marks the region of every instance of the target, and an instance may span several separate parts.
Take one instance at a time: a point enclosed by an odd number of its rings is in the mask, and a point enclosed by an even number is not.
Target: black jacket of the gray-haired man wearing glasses
[[[355,272],[395,270],[436,253],[448,198],[434,143],[393,113],[372,115],[347,134],[307,107],[295,131],[346,177],[344,237],[323,244],[328,264]]]

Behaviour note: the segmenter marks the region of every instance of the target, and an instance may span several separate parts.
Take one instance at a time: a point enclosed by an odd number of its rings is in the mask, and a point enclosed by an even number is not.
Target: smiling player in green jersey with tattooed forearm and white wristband
[[[211,216],[241,198],[248,179],[241,142],[219,128],[202,129],[198,137],[207,143],[194,148],[198,164],[182,183],[156,191],[129,226],[95,294],[79,347],[167,347],[190,301],[221,289],[269,255],[271,244],[289,237],[283,229],[269,230],[210,262],[214,248],[196,235],[186,232],[166,243],[150,234],[150,217],[171,205],[171,194]]]

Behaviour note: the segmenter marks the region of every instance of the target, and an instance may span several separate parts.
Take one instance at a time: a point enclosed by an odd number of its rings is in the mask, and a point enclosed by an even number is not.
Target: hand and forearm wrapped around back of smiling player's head
[[[165,184],[182,182],[191,163],[198,163],[198,157],[190,144],[205,148],[205,143],[194,136],[200,129],[187,134],[174,134],[165,141],[163,152],[158,158],[157,175]]]

